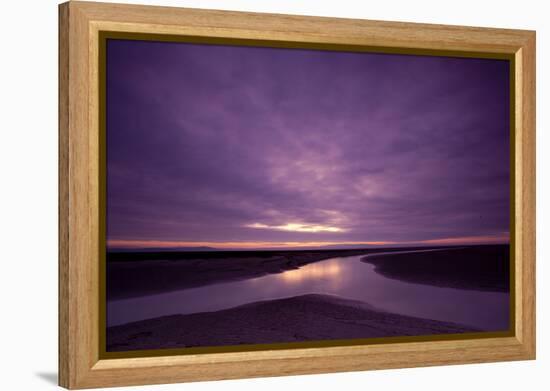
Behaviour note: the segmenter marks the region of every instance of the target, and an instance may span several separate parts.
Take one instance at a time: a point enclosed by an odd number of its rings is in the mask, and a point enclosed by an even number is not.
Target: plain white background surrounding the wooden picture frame
[[[119,2],[125,2],[119,0]],[[134,3],[537,30],[538,360],[142,387],[544,389],[550,376],[549,61],[545,1],[148,0]],[[57,1],[0,3],[0,389],[54,388],[57,376]],[[545,23],[546,17],[546,23]],[[545,110],[546,109],[546,110]],[[132,388],[138,389],[138,388]],[[547,389],[547,388],[546,388]]]

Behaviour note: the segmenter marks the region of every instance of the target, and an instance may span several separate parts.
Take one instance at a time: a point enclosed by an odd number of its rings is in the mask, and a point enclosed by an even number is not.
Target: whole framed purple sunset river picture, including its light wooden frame
[[[59,7],[59,381],[535,358],[535,33]]]

